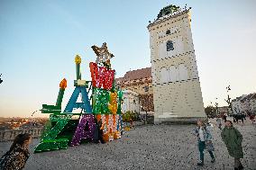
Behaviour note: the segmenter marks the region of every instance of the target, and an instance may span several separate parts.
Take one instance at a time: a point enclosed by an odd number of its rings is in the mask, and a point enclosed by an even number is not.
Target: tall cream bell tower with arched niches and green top
[[[154,122],[206,118],[190,28],[190,9],[169,5],[150,31]]]

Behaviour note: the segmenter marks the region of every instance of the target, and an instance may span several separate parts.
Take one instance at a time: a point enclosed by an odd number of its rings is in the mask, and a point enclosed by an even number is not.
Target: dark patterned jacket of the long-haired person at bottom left
[[[23,148],[21,145],[16,144],[13,150],[5,153],[0,160],[0,169],[5,170],[20,170],[25,166],[29,158],[28,148]]]

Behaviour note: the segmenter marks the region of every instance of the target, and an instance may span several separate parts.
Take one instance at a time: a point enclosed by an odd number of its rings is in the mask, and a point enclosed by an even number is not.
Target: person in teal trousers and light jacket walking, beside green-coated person
[[[215,163],[215,156],[213,153],[214,146],[212,143],[212,135],[210,130],[206,128],[206,125],[203,121],[197,121],[197,128],[194,130],[194,134],[197,136],[198,149],[200,153],[200,162],[197,163],[197,166],[204,166],[204,150],[207,144],[211,145],[211,150],[208,150],[210,156],[212,157],[211,162]]]

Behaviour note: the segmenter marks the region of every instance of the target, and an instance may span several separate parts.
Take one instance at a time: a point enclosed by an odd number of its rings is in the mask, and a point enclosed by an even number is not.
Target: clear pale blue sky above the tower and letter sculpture
[[[204,105],[226,105],[227,85],[232,98],[255,93],[254,0],[0,0],[0,117],[30,117],[41,104],[55,104],[64,77],[65,108],[74,90],[77,54],[82,79],[91,79],[92,45],[107,43],[116,77],[151,67],[147,25],[169,4],[192,7]],[[48,114],[34,114],[41,116]]]

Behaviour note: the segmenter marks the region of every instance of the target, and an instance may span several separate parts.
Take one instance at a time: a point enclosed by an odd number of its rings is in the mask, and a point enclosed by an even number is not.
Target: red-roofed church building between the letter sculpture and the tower
[[[128,71],[115,79],[123,90],[122,112],[153,112],[151,67]]]

